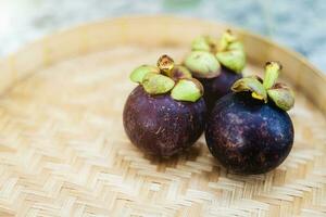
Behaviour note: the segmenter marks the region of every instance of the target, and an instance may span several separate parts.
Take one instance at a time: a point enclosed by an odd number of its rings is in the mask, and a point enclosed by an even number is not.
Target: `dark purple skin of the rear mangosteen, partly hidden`
[[[241,74],[237,74],[224,66],[221,67],[221,74],[214,78],[199,78],[197,79],[202,84],[204,88],[204,100],[208,106],[208,111],[212,111],[215,102],[231,92],[230,87],[238,79],[242,78]]]

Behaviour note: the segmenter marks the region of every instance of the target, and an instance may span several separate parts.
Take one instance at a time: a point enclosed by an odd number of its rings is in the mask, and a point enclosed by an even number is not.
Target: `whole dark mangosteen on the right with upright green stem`
[[[268,62],[265,78],[237,80],[212,110],[205,128],[209,150],[227,169],[254,175],[280,165],[291,151],[293,125],[287,111],[292,91],[275,84],[281,66]]]

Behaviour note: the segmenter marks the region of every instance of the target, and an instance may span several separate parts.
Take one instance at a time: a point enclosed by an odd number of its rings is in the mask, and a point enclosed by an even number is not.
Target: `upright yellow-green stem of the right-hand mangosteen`
[[[264,81],[263,81],[263,86],[264,88],[271,89],[279,75],[279,71],[281,69],[281,65],[278,62],[267,62],[265,65],[265,77],[264,77]]]

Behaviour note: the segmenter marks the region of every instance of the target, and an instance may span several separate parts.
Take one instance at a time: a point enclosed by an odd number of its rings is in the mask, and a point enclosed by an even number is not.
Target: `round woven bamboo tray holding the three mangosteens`
[[[247,74],[284,64],[296,141],[276,170],[227,173],[201,138],[170,161],[126,138],[129,72],[162,53],[181,60],[226,26],[152,16],[93,23],[0,61],[0,216],[326,216],[326,79],[296,53],[237,30]]]

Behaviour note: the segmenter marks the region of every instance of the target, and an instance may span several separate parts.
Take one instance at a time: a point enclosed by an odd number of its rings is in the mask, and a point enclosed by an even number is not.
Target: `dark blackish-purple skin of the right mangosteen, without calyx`
[[[214,106],[205,128],[211,153],[229,170],[262,174],[280,165],[293,143],[289,115],[249,92],[229,93]]]

